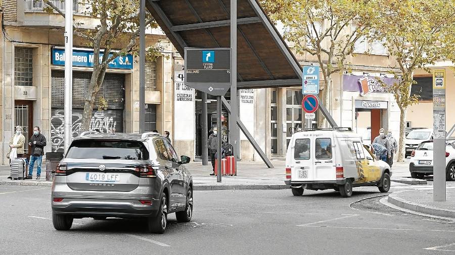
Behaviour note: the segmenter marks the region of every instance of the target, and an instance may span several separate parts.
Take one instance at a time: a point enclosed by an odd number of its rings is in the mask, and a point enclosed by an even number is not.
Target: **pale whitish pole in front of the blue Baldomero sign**
[[[65,153],[71,144],[72,127],[72,89],[73,89],[73,1],[65,1],[65,117],[64,117],[64,149]]]

